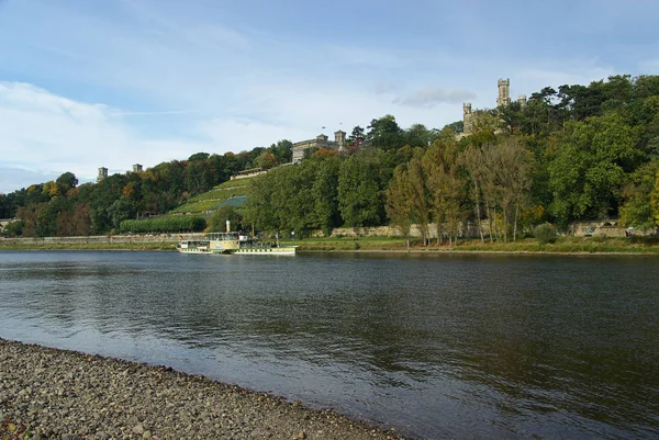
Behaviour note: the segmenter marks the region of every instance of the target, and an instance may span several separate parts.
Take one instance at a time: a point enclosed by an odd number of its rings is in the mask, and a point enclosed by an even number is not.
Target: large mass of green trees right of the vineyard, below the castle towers
[[[659,223],[657,76],[544,88],[526,104],[474,112],[472,133],[461,129],[405,131],[392,115],[357,126],[359,149],[315,151],[256,179],[245,218],[297,233],[389,223],[409,236],[416,224],[426,242],[433,224],[449,241],[468,223],[506,241],[545,222]]]

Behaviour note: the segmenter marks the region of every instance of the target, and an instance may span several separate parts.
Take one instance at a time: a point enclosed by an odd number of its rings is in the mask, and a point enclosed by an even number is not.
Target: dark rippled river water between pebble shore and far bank
[[[0,252],[0,337],[412,438],[659,437],[659,259]]]

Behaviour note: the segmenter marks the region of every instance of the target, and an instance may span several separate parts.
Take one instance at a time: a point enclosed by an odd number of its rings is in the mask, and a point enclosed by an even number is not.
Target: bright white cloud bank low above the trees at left
[[[76,102],[31,84],[0,82],[0,167],[44,177],[71,171],[80,181],[89,181],[99,167],[123,172],[135,162],[153,166],[212,146],[199,140],[144,138],[118,113],[107,105]],[[25,185],[9,181],[16,176],[7,171],[0,191]]]

